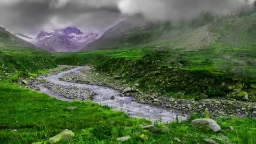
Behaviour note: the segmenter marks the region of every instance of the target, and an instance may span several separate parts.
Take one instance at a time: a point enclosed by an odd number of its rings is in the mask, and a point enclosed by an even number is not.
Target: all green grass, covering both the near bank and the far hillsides
[[[148,25],[142,31],[125,35],[122,41],[99,44],[100,48],[110,50],[92,52],[36,50],[20,46],[6,31],[0,33],[0,143],[44,141],[64,129],[76,134],[68,143],[120,143],[116,138],[126,135],[132,138],[124,143],[175,143],[174,138],[183,143],[204,143],[205,137],[220,133],[234,143],[254,143],[255,119],[218,118],[215,120],[222,131],[213,133],[196,130],[191,125],[192,119],[204,117],[199,115],[186,122],[167,124],[170,132],[146,133],[148,140],[143,141],[139,138],[140,124],[149,123],[145,119],[130,118],[90,101],[58,101],[15,82],[20,77],[48,73],[45,69],[57,64],[91,64],[110,76],[123,75],[121,80],[125,79],[129,85],[139,83],[142,91],[155,90],[157,95],[179,97],[178,92],[186,92],[185,98],[197,99],[201,93],[210,98],[225,97],[232,92],[228,86],[237,88],[245,83],[242,90],[248,90],[251,99],[256,94],[249,86],[256,83],[255,15],[248,12],[212,21],[206,13],[183,24]],[[211,35],[213,43],[206,42],[206,33]],[[77,109],[69,111],[66,109],[69,106]],[[228,126],[234,130],[227,130]],[[18,131],[14,132],[15,129]]]

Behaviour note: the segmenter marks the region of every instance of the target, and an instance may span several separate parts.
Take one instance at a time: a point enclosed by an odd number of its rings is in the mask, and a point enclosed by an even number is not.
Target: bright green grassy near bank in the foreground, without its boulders
[[[221,134],[234,143],[256,141],[256,120],[252,118],[215,119],[222,131],[213,133],[196,130],[191,120],[203,116],[195,115],[187,122],[168,124],[169,132],[154,134],[141,130],[140,124],[150,124],[145,119],[130,118],[122,112],[90,101],[62,102],[52,99],[46,94],[13,83],[18,76],[14,74],[0,82],[0,143],[45,141],[64,129],[73,131],[76,136],[63,143],[120,143],[116,139],[126,135],[130,135],[131,140],[124,143],[178,143],[174,138],[180,139],[182,143],[204,143],[204,138],[218,138],[213,135]],[[67,109],[69,106],[77,109],[70,111]],[[234,130],[226,129],[228,126],[233,126]],[[161,125],[157,124],[156,127]],[[140,138],[143,132],[148,139]]]

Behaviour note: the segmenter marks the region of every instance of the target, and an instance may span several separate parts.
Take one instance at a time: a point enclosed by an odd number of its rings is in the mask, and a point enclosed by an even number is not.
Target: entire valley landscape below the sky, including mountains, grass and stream
[[[0,27],[0,143],[255,143],[255,9],[137,17],[102,36]]]

